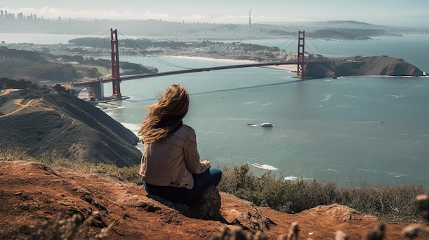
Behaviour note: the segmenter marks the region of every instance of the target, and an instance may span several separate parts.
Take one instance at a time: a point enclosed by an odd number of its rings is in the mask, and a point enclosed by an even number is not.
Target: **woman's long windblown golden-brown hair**
[[[180,84],[169,86],[164,95],[149,106],[146,118],[138,130],[141,141],[152,143],[174,133],[182,126],[188,107],[188,91]]]

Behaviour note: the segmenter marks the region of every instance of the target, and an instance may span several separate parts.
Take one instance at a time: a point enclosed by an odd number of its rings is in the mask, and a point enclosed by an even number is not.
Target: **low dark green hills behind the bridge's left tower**
[[[0,46],[0,77],[10,79],[30,77],[34,83],[40,81],[65,83],[104,77],[103,74],[111,68],[111,62],[108,59],[93,59],[82,55],[71,56],[70,53],[77,51],[74,47],[63,47],[62,55],[47,53],[49,50],[47,45],[42,46],[42,49],[43,51],[27,51]],[[141,64],[130,62],[121,62],[121,70],[135,73],[158,71],[156,68],[146,68]]]

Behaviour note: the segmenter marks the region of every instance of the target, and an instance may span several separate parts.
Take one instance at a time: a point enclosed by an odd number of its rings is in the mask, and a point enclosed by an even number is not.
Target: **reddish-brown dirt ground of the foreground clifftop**
[[[59,213],[88,217],[96,211],[99,217],[90,230],[100,232],[113,223],[108,239],[212,239],[221,228],[237,225],[248,235],[262,231],[268,239],[278,239],[294,222],[299,226],[298,239],[334,239],[336,230],[350,239],[365,239],[369,230],[382,223],[347,206],[317,206],[287,214],[223,192],[220,219],[195,219],[149,198],[143,187],[132,183],[41,163],[0,161],[0,239],[28,235],[29,226],[53,222]],[[408,224],[384,224],[386,239],[404,239],[402,230]],[[429,239],[429,235],[417,239]]]

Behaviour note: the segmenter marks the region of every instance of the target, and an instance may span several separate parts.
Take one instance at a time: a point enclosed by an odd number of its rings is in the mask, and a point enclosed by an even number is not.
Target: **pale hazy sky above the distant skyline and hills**
[[[429,29],[428,0],[1,0],[0,10],[56,19],[252,23],[351,20]]]

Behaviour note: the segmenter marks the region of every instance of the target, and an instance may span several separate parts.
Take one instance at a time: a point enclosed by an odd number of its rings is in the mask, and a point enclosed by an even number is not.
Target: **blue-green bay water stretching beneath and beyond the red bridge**
[[[242,42],[280,46],[284,40]],[[314,47],[307,49],[328,57],[389,55],[429,72],[428,35],[311,42]],[[188,68],[236,64],[162,59]],[[139,63],[140,58],[126,61]],[[180,83],[191,94],[184,123],[197,133],[201,159],[214,166],[248,163],[255,174],[262,174],[267,170],[252,163],[267,164],[286,179],[334,181],[341,186],[429,186],[428,77],[299,81],[294,76],[272,68],[236,68],[123,81],[121,92],[130,98],[99,107],[136,133],[158,92]],[[111,83],[104,87],[109,94]],[[250,122],[255,126],[247,125]],[[259,126],[262,122],[273,127]],[[143,150],[142,144],[137,148]]]

